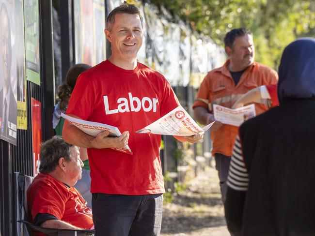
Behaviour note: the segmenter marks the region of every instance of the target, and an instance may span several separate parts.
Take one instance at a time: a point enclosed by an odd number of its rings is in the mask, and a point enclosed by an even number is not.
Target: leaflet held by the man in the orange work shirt
[[[245,120],[256,116],[254,104],[237,109],[213,104],[213,113],[216,120],[234,126],[240,126]]]

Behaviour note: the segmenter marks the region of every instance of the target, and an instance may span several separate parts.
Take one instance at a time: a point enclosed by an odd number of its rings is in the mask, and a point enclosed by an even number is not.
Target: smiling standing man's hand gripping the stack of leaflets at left
[[[119,137],[108,137],[110,133],[104,131],[98,133],[96,137],[91,141],[93,148],[125,148],[128,144],[129,132],[125,131]]]

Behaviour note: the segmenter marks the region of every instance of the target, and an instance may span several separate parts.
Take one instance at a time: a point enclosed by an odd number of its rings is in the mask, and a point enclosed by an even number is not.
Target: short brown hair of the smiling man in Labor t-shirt
[[[140,20],[141,20],[141,26],[143,27],[143,18],[142,18],[139,7],[137,7],[134,4],[124,3],[124,4],[121,4],[120,6],[114,8],[114,10],[112,10],[110,12],[110,14],[108,15],[107,21],[106,21],[106,29],[107,30],[110,31],[112,29],[112,26],[115,23],[115,15],[117,15],[117,14],[131,14],[131,15],[136,14],[136,15],[139,15]]]

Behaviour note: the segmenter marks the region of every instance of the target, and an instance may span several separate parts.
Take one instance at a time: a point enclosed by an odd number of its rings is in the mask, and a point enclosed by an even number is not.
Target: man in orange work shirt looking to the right
[[[232,29],[224,38],[225,52],[229,59],[225,64],[210,71],[198,90],[193,104],[194,116],[201,124],[213,122],[213,104],[231,108],[244,93],[261,85],[276,84],[278,74],[254,61],[252,32],[248,29]],[[268,109],[268,101],[255,103],[256,114]],[[212,154],[216,160],[222,201],[225,202],[226,179],[232,148],[238,127],[216,121],[211,129]],[[235,166],[237,171],[238,166]]]

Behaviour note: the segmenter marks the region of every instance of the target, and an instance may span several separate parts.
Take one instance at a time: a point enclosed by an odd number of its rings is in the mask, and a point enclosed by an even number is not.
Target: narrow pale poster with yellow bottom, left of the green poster
[[[27,130],[23,1],[15,0],[17,129]]]

